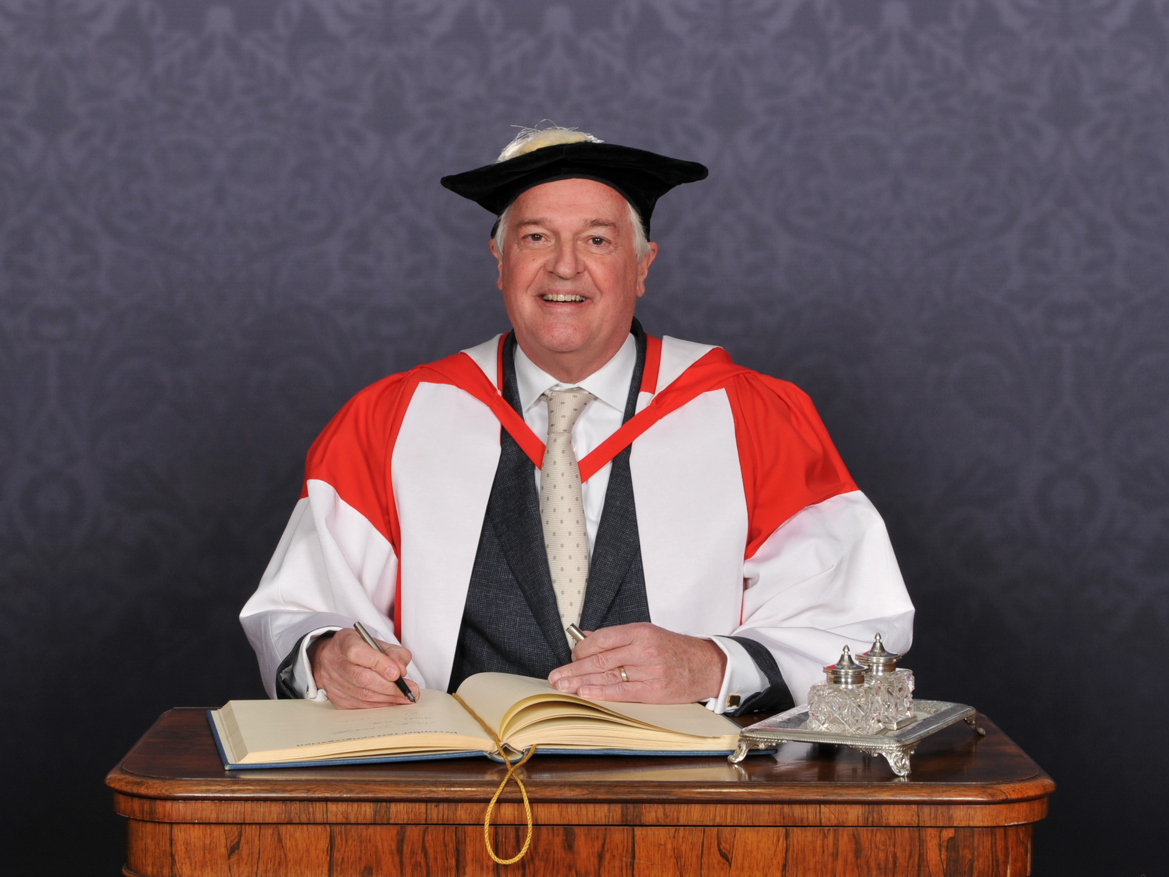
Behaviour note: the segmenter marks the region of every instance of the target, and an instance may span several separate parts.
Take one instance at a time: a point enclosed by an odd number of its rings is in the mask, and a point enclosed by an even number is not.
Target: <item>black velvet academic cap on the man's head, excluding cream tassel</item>
[[[541,182],[596,180],[615,188],[634,206],[648,237],[657,200],[683,182],[705,180],[707,173],[706,166],[697,161],[614,143],[580,141],[541,146],[473,171],[443,177],[442,185],[498,217],[520,194]],[[494,235],[494,227],[491,234]]]

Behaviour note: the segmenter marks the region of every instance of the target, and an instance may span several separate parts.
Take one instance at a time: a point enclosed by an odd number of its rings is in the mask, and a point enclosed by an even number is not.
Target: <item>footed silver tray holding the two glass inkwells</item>
[[[768,750],[779,743],[835,743],[851,746],[869,755],[883,755],[898,776],[909,775],[909,755],[918,744],[929,734],[949,727],[955,721],[966,720],[980,737],[987,732],[978,727],[974,707],[952,704],[948,700],[914,700],[916,719],[897,731],[880,731],[876,734],[832,734],[828,731],[808,730],[808,705],[796,706],[779,716],[756,721],[739,734],[739,746],[727,757],[732,764],[742,761],[750,750]]]

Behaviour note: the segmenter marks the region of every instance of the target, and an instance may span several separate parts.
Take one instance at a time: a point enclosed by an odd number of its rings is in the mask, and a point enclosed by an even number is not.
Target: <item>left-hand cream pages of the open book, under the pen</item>
[[[444,691],[416,704],[338,710],[317,700],[231,700],[213,713],[231,764],[493,751],[483,727]]]

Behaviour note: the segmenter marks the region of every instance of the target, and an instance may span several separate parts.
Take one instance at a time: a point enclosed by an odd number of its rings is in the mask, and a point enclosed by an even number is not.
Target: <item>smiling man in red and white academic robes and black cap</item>
[[[908,649],[884,523],[808,396],[634,317],[657,199],[705,177],[546,129],[443,179],[497,216],[512,331],[367,387],[313,443],[241,614],[270,695],[381,706],[502,671],[775,711],[844,644]]]

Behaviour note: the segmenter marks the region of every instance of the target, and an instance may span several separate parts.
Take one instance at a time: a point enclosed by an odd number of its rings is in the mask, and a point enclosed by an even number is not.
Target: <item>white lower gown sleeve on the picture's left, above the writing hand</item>
[[[389,541],[331,485],[310,481],[309,496],[292,510],[260,587],[240,613],[269,697],[276,696],[281,662],[306,634],[360,621],[375,637],[397,642],[396,581],[397,557]],[[408,675],[426,686],[413,663]],[[311,682],[303,678],[303,668],[295,676]]]

